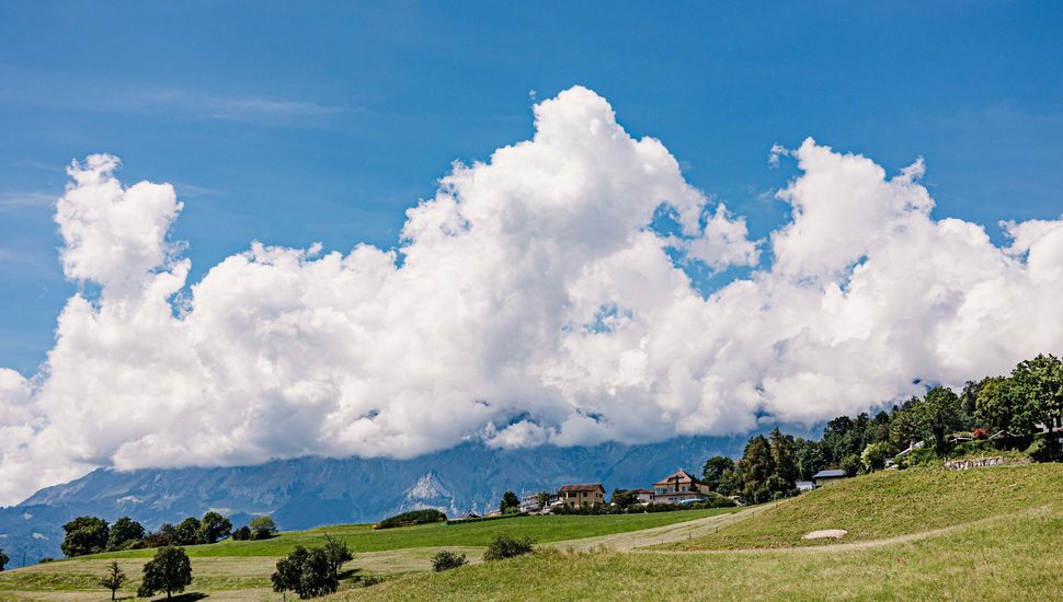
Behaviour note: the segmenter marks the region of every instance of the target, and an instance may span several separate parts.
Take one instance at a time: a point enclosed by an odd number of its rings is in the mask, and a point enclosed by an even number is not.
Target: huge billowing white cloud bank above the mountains
[[[535,116],[411,208],[398,251],[254,243],[187,294],[173,188],[76,162],[61,261],[96,293],[68,301],[42,373],[0,370],[0,500],[100,465],[811,424],[1063,346],[1063,220],[1004,223],[998,247],[930,216],[922,162],[887,177],[809,139],[782,151],[791,220],[751,241],[593,92]],[[706,297],[683,262],[753,269]]]

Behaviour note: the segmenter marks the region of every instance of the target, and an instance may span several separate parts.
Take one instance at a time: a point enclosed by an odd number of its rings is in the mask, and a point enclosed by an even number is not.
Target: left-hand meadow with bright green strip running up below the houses
[[[359,574],[397,575],[424,571],[441,548],[464,552],[473,560],[482,547],[501,532],[530,536],[537,542],[580,540],[622,534],[668,524],[728,514],[736,509],[686,510],[652,514],[604,517],[544,516],[446,525],[443,523],[374,530],[368,524],[334,525],[309,531],[283,533],[256,542],[226,541],[213,545],[187,546],[195,578],[193,591],[210,592],[210,599],[272,599],[270,575],[277,558],[296,545],[321,545],[323,534],[341,537],[355,552],[348,569]],[[129,575],[127,594],[136,591],[140,568],[153,549],[133,549],[81,556],[24,569],[0,572],[0,600],[94,599],[101,591],[96,582],[111,559],[119,560]],[[348,586],[352,583],[348,583]],[[79,598],[84,595],[84,598]]]

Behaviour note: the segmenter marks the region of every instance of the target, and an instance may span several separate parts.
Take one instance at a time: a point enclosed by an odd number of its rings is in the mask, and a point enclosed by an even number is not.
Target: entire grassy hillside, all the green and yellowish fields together
[[[677,522],[683,521],[683,522]],[[845,529],[841,541],[805,541]],[[373,531],[342,525],[267,542],[190,547],[190,591],[213,601],[279,600],[276,558],[321,533],[355,551],[330,600],[1049,600],[1063,591],[1063,464],[861,476],[777,505],[617,517],[528,517]],[[480,563],[499,532],[530,535],[532,556]],[[552,542],[552,543],[547,543]],[[426,572],[441,548],[473,564]],[[136,589],[144,556],[123,553]],[[105,600],[98,555],[0,574],[0,600]],[[359,576],[387,580],[362,587]]]

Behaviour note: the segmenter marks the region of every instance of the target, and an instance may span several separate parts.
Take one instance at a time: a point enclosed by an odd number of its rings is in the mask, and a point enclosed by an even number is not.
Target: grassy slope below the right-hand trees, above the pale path
[[[833,483],[720,529],[662,549],[814,546],[811,531],[844,529],[842,543],[918,533],[1022,511],[1063,498],[1063,464],[945,471],[883,471]]]

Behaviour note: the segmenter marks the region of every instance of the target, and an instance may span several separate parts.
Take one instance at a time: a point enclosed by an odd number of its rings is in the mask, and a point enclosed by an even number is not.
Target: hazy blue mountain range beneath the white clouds
[[[372,522],[414,508],[449,516],[485,512],[502,494],[556,490],[564,483],[649,487],[685,468],[699,473],[711,455],[738,455],[746,437],[683,437],[649,444],[501,449],[480,442],[413,458],[279,460],[255,466],[98,468],[0,508],[0,548],[9,567],[59,557],[62,524],[90,514],[130,517],[147,529],[217,510],[235,526],[272,514],[282,530]]]

